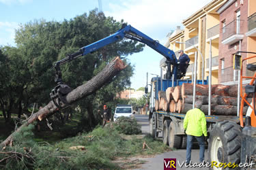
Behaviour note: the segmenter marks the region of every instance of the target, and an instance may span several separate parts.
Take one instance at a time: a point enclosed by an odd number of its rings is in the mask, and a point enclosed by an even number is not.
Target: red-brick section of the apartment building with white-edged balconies
[[[248,29],[248,1],[229,0],[218,9],[218,14],[221,25],[218,46],[218,83],[237,84],[240,75],[233,69],[233,54],[238,51],[247,51],[248,38],[245,33]],[[242,58],[246,56],[247,54],[242,53]]]

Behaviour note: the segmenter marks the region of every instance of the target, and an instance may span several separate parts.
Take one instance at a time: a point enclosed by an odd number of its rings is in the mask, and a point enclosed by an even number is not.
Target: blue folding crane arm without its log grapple
[[[58,82],[58,83],[62,82],[59,65],[63,65],[64,63],[72,61],[74,58],[78,58],[79,56],[84,56],[85,54],[94,52],[108,44],[113,44],[116,41],[120,41],[124,39],[124,37],[146,44],[147,46],[150,46],[150,48],[156,50],[156,52],[159,52],[160,54],[165,56],[165,58],[167,58],[166,62],[168,67],[167,70],[169,70],[169,78],[171,78],[170,70],[171,70],[171,65],[173,65],[172,74],[174,76],[174,79],[176,80],[177,58],[174,52],[169,48],[162,46],[158,41],[148,37],[144,33],[141,33],[141,31],[134,29],[134,27],[130,25],[127,25],[127,26],[124,25],[122,29],[119,29],[119,31],[117,31],[113,35],[109,35],[109,37],[105,37],[104,39],[100,39],[94,42],[93,44],[84,46],[78,52],[75,52],[74,54],[68,54],[66,58],[63,58],[60,61],[57,61],[55,63],[55,69],[56,69],[55,82]]]

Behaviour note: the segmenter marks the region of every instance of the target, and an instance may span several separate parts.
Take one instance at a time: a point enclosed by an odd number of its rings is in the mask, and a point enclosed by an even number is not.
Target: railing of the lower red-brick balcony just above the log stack
[[[238,71],[233,67],[221,69],[221,82],[232,82],[238,80]]]

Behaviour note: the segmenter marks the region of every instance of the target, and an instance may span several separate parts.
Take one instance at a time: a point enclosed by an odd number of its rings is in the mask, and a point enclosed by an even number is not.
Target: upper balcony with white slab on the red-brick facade
[[[223,27],[223,39],[222,44],[234,44],[240,41],[244,35],[240,33],[240,25],[243,24],[243,20],[233,20],[226,27]]]

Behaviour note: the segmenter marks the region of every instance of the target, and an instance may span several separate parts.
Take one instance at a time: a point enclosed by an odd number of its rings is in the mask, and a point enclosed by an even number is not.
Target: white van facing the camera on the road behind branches
[[[115,108],[114,121],[119,117],[132,117],[132,105],[117,105]]]

